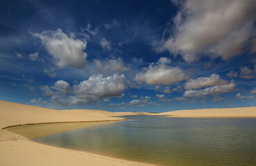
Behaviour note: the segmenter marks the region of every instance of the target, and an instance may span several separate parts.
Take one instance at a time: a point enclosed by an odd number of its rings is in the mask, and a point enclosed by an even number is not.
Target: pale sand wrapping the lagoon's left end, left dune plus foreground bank
[[[136,114],[144,113],[110,113],[96,110],[59,111],[0,101],[0,165],[149,165],[85,151],[42,145],[3,130],[5,127],[19,124],[125,120],[110,116]]]

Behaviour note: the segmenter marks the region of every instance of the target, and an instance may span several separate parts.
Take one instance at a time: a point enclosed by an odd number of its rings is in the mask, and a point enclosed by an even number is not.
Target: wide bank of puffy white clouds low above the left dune
[[[41,86],[43,95],[50,96],[51,102],[60,105],[76,105],[98,103],[100,98],[109,102],[108,98],[124,96],[127,89],[125,75],[114,74],[110,77],[94,75],[88,80],[70,86],[68,82],[58,80],[53,86]]]

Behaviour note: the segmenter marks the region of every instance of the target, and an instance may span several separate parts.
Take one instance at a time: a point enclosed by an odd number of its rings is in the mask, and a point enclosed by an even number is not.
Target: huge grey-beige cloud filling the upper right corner
[[[205,54],[229,59],[240,55],[253,36],[255,14],[253,0],[184,1],[173,28],[165,30],[173,34],[162,39],[156,50],[180,54],[186,62],[195,62]]]

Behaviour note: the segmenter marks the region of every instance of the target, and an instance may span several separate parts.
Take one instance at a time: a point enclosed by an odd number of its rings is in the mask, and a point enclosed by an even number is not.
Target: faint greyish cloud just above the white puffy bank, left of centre
[[[109,72],[114,73],[122,73],[124,71],[128,71],[128,66],[123,63],[121,57],[118,59],[105,59],[103,61],[99,59],[94,59],[94,64],[97,70],[101,71],[101,73],[107,74]]]

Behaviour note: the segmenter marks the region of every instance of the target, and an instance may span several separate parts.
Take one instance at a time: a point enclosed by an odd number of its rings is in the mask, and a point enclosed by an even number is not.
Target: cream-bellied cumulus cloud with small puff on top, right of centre
[[[144,71],[138,73],[135,80],[139,83],[146,84],[173,84],[182,80],[187,80],[189,76],[179,67],[167,66],[171,60],[168,58],[160,58],[158,62],[150,64]]]

